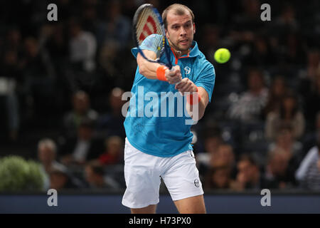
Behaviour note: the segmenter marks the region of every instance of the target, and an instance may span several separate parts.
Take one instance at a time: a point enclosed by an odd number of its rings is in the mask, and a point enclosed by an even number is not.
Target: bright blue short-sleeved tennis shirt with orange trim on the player
[[[156,52],[159,35],[147,37],[141,44],[142,50]],[[166,46],[169,47],[168,43]],[[170,47],[169,47],[170,49]],[[132,48],[132,54],[137,58],[137,48]],[[188,55],[176,58],[170,51],[171,63],[181,68],[182,78],[189,78],[196,86],[204,88],[209,96],[209,102],[215,84],[213,65],[199,51],[196,41],[193,41]],[[166,57],[161,56],[166,62]],[[142,152],[159,157],[172,157],[186,150],[192,150],[191,120],[186,112],[186,99],[166,81],[146,78],[139,73],[139,66],[132,86],[124,129],[129,142]],[[183,102],[181,102],[183,100]]]

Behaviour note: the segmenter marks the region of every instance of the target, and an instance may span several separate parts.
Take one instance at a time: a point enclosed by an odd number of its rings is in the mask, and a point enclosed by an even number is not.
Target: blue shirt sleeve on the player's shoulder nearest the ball
[[[202,87],[207,91],[210,103],[213,87],[215,86],[215,68],[208,61],[205,64],[206,66],[203,68],[201,73],[199,73],[199,76],[196,78],[194,83],[197,87]]]

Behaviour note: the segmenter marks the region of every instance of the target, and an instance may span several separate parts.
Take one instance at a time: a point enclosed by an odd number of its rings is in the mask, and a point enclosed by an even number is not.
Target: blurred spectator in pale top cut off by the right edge
[[[306,190],[320,190],[320,131],[316,133],[316,146],[302,160],[295,177]]]

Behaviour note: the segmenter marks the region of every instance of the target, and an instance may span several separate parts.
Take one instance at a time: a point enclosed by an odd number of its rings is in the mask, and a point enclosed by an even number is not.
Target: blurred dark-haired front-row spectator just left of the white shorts
[[[105,175],[102,165],[97,162],[89,162],[85,165],[85,180],[92,189],[119,189],[117,181]]]

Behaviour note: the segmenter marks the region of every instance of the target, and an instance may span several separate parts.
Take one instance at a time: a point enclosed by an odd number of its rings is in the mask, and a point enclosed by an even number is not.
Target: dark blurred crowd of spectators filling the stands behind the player
[[[0,2],[0,156],[41,162],[46,189],[122,190],[122,100],[137,62],[132,17],[149,2]],[[58,6],[58,21],[47,6]],[[271,21],[261,21],[269,3]],[[320,2],[183,1],[215,66],[192,130],[206,190],[320,190]],[[213,53],[228,48],[228,63]]]

